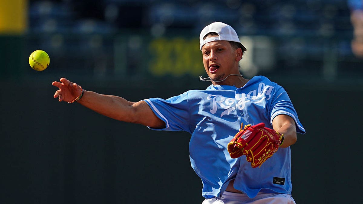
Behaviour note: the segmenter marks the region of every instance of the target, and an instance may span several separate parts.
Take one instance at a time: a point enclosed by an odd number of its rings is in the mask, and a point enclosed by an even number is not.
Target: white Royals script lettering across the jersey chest
[[[223,115],[229,115],[232,111],[242,110],[245,108],[247,102],[252,103],[260,103],[263,100],[270,100],[271,99],[271,92],[273,90],[272,86],[265,85],[265,83],[260,83],[258,85],[258,89],[250,91],[248,94],[241,93],[236,94],[235,98],[226,98],[222,95],[208,95],[207,99],[211,100],[212,109],[211,114],[215,114],[217,112],[217,104],[226,109],[221,113],[221,118]]]

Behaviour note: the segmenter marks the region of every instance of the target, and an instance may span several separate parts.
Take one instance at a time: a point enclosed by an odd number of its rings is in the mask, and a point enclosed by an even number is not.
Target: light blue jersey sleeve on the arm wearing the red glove
[[[294,119],[296,125],[296,131],[301,134],[305,134],[305,129],[299,121],[296,110],[287,95],[285,89],[279,85],[276,87],[275,97],[270,105],[269,115],[270,115],[270,123],[272,124],[273,119],[277,115],[289,115]]]

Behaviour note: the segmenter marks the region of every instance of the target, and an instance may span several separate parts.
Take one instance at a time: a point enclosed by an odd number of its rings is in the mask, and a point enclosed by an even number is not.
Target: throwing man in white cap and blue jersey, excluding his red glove
[[[107,117],[152,130],[189,132],[190,161],[203,183],[203,204],[295,203],[289,146],[296,142],[297,132],[304,134],[305,130],[286,91],[266,77],[243,78],[238,62],[246,48],[227,24],[206,26],[200,34],[200,49],[212,82],[205,90],[190,90],[166,100],[129,102],[85,91],[61,78],[53,82],[59,88],[54,98],[78,102]],[[227,145],[241,124],[261,122],[284,134],[278,151],[260,168],[252,168],[244,156],[232,159]]]

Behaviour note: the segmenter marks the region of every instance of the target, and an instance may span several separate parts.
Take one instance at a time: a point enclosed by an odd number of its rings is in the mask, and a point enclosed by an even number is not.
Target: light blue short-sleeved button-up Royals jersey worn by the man
[[[211,85],[169,99],[144,100],[166,127],[153,130],[187,131],[190,161],[203,183],[202,196],[219,197],[234,180],[234,188],[249,197],[258,192],[291,194],[290,147],[278,151],[260,168],[252,168],[245,156],[232,159],[227,145],[244,125],[263,122],[272,128],[280,114],[291,116],[297,132],[304,134],[286,91],[268,78],[253,77],[241,88]]]

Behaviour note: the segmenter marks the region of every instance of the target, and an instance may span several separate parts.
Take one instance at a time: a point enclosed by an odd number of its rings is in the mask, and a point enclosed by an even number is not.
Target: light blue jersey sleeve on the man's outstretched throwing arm
[[[151,130],[187,131],[190,130],[190,109],[188,104],[188,93],[168,99],[149,98],[145,101],[154,114],[165,122],[165,128],[150,128]]]

